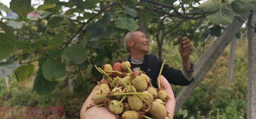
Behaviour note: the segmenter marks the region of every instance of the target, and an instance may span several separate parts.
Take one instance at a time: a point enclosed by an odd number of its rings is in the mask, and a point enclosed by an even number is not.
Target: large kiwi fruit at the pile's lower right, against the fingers
[[[157,119],[163,119],[167,115],[165,106],[155,101],[152,102],[149,113]]]

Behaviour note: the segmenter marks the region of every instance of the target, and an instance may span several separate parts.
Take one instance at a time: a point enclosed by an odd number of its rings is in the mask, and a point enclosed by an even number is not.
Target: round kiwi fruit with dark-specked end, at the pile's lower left
[[[114,114],[122,113],[123,109],[124,105],[122,103],[119,103],[118,100],[111,100],[111,102],[108,105],[108,110]]]

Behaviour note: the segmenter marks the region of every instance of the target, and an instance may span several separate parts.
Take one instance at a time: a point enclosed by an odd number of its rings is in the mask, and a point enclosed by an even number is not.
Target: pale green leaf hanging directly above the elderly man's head
[[[127,29],[130,31],[134,31],[139,28],[137,22],[135,22],[131,17],[118,17],[115,24],[117,28]]]

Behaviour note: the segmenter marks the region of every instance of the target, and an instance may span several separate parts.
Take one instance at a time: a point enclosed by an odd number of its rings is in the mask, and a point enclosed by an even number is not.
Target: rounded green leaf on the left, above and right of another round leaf
[[[76,64],[81,64],[87,58],[87,51],[81,44],[75,44],[65,48],[64,55]]]

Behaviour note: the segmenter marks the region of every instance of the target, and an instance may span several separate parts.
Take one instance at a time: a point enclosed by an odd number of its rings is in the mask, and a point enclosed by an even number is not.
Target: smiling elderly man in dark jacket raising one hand
[[[145,34],[141,31],[129,32],[124,38],[124,47],[130,52],[128,61],[131,62],[131,69],[136,72],[142,70],[152,79],[152,85],[157,87],[157,76],[160,72],[163,61],[159,61],[155,55],[148,55],[149,42]],[[174,85],[189,85],[193,78],[193,64],[189,61],[189,55],[193,47],[187,37],[183,37],[180,42],[179,52],[182,58],[183,67],[181,70],[164,65],[162,75]]]

